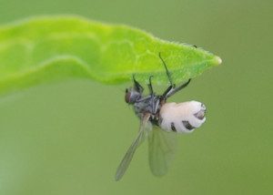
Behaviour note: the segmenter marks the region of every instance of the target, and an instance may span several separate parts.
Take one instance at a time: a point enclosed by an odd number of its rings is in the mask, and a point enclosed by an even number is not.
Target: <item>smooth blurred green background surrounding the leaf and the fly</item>
[[[140,147],[123,180],[119,160],[138,120],[122,86],[68,80],[0,98],[0,194],[272,194],[272,1],[0,0],[0,23],[76,14],[202,46],[223,64],[172,101],[196,99],[207,122],[179,136],[167,176]]]

